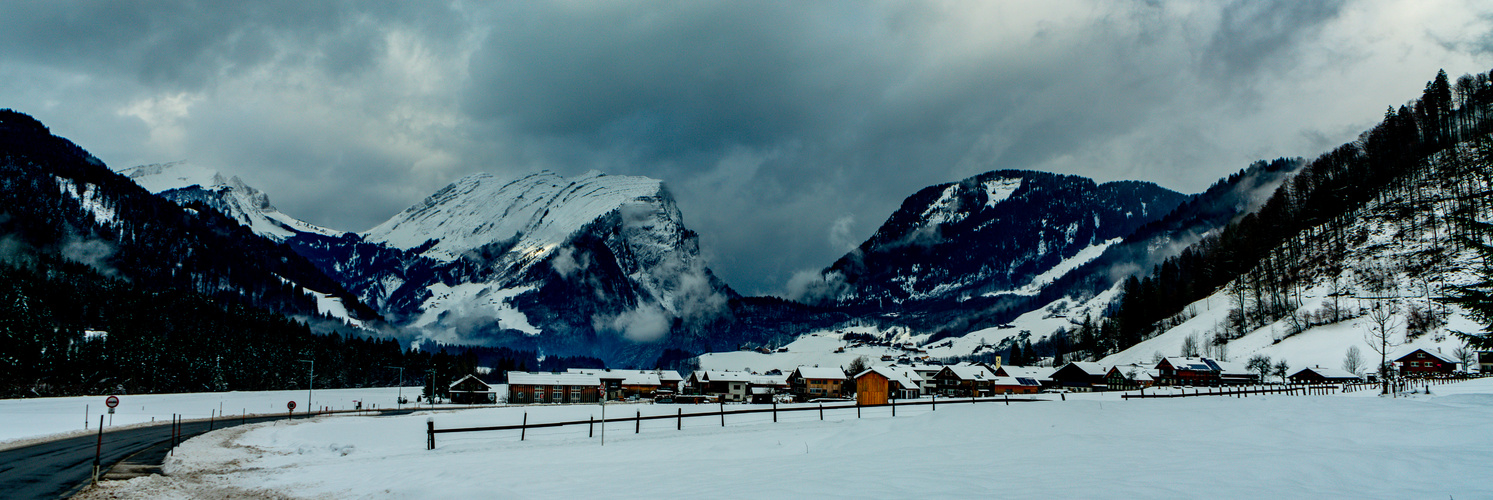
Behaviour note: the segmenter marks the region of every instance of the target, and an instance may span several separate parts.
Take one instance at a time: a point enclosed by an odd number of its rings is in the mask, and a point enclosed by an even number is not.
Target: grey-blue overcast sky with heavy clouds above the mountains
[[[7,1],[0,107],[351,231],[475,172],[651,176],[761,294],[987,170],[1196,193],[1315,157],[1493,69],[1490,27],[1456,0]]]

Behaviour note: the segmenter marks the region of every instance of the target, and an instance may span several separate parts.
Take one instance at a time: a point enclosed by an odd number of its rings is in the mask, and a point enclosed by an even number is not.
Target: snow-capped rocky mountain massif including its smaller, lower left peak
[[[651,363],[679,342],[660,340],[685,337],[733,297],[657,179],[478,173],[364,233],[339,233],[281,213],[264,193],[209,169],[170,163],[124,173],[284,242],[409,340]]]

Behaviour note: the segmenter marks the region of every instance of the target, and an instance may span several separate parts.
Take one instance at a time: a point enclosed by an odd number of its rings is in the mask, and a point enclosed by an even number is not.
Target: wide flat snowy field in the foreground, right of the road
[[[1487,499],[1493,379],[1433,396],[941,403],[437,434],[585,419],[597,406],[437,410],[254,424],[188,440],[170,476],[97,497],[308,499]],[[684,406],[703,412],[715,406]],[[742,406],[727,406],[742,407]],[[609,404],[608,416],[675,413]],[[87,496],[85,496],[87,497]]]

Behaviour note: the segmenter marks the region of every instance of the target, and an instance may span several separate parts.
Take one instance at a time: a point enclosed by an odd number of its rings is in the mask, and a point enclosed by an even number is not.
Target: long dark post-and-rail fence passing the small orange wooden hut
[[[1011,404],[1011,403],[1030,403],[1030,401],[1050,401],[1050,400],[1042,400],[1042,399],[1035,399],[1035,397],[1027,397],[1027,399],[1015,397],[1014,399],[1014,397],[1011,397],[1008,394],[1008,396],[1003,396],[1003,397],[960,397],[960,399],[944,399],[944,400],[939,400],[938,397],[933,397],[932,400],[912,400],[912,401],[900,401],[900,403],[897,400],[891,400],[891,403],[887,403],[887,404],[860,404],[860,403],[851,403],[851,404],[824,406],[824,403],[820,403],[818,406],[787,406],[787,407],[779,407],[778,403],[772,403],[772,407],[748,407],[748,409],[733,409],[733,410],[726,409],[726,403],[720,403],[721,406],[715,412],[691,412],[691,413],[685,413],[684,409],[679,407],[679,409],[676,409],[676,412],[673,415],[664,413],[664,415],[646,415],[645,416],[642,413],[642,410],[638,410],[638,412],[635,412],[633,416],[618,416],[618,418],[606,418],[606,419],[596,419],[593,416],[593,418],[582,419],[582,421],[561,421],[561,422],[540,422],[540,424],[530,424],[529,422],[529,412],[524,412],[524,421],[523,421],[523,424],[518,424],[518,425],[452,427],[452,428],[436,428],[434,419],[427,419],[426,421],[426,449],[436,449],[436,434],[446,434],[446,433],[481,433],[481,431],[517,430],[518,431],[518,440],[524,440],[527,437],[527,433],[529,433],[530,428],[587,425],[587,437],[596,437],[596,424],[606,425],[606,424],[617,424],[617,422],[633,422],[633,433],[638,434],[638,433],[642,433],[642,422],[643,421],[655,421],[655,419],[673,419],[675,421],[675,430],[684,430],[684,419],[685,418],[720,416],[721,427],[726,427],[726,416],[729,416],[729,415],[772,413],[772,421],[776,422],[778,421],[778,413],[791,413],[791,412],[820,412],[820,419],[824,419],[824,412],[826,410],[830,410],[830,412],[833,412],[833,410],[855,410],[855,418],[860,418],[861,409],[890,407],[891,409],[891,416],[897,416],[897,407],[906,407],[906,406],[930,406],[932,410],[936,412],[939,403],[942,403],[942,404],[964,404],[964,403],[1006,403],[1006,404]]]

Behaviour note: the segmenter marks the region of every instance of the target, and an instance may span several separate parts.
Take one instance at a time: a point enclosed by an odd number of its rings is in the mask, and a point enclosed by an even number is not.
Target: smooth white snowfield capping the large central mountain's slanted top
[[[514,252],[537,260],[608,212],[635,203],[651,204],[660,196],[664,196],[661,181],[594,170],[570,179],[539,172],[512,181],[476,173],[363,236],[402,249],[434,239],[436,245],[426,255],[442,260],[514,240]]]

